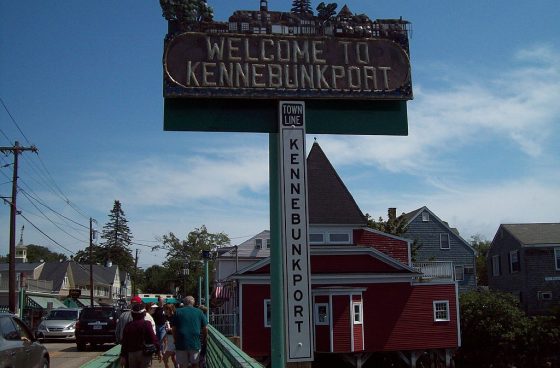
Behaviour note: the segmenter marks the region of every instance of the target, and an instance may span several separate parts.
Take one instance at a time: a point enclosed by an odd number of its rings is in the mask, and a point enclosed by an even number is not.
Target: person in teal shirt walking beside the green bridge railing
[[[181,368],[199,368],[201,342],[206,342],[208,321],[194,306],[194,297],[187,296],[183,303],[185,306],[177,309],[171,320],[177,363]]]

